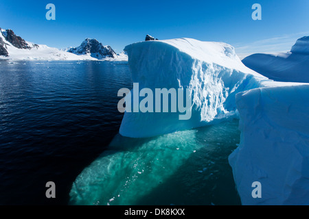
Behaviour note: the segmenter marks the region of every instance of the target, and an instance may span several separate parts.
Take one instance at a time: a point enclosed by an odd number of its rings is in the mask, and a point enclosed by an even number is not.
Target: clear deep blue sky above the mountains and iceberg
[[[47,21],[47,3],[56,5],[56,21]],[[262,21],[253,21],[251,6],[262,5]],[[290,49],[295,38],[309,35],[308,0],[0,0],[0,27],[37,44],[76,47],[96,38],[116,52],[144,40],[195,38],[227,42],[240,53],[269,44]],[[292,43],[292,44],[291,44]],[[268,49],[269,50],[269,49]]]

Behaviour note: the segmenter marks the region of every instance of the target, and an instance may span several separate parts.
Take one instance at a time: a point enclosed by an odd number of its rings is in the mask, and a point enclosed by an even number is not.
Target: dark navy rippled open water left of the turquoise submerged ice
[[[67,204],[118,132],[117,91],[131,83],[124,62],[0,62],[0,204]]]

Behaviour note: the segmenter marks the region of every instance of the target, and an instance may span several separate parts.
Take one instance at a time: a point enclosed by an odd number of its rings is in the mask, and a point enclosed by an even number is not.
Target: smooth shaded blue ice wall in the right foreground
[[[309,205],[309,84],[277,83],[236,95],[240,146],[229,164],[242,205]],[[259,181],[262,198],[253,198]]]

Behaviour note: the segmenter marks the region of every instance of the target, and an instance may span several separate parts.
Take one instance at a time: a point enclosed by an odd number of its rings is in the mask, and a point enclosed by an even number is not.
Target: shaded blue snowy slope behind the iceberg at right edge
[[[299,38],[290,52],[249,55],[247,67],[275,81],[309,82],[309,36]]]

